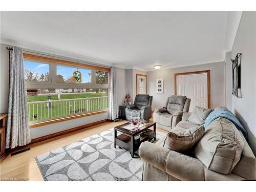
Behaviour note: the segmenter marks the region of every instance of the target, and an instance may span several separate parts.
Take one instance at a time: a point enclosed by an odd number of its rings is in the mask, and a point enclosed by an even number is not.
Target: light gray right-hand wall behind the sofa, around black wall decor
[[[242,53],[242,98],[232,97],[232,112],[249,132],[249,145],[256,155],[256,12],[243,12],[231,57]],[[227,85],[230,86],[230,83]]]

